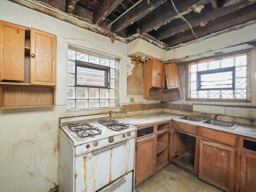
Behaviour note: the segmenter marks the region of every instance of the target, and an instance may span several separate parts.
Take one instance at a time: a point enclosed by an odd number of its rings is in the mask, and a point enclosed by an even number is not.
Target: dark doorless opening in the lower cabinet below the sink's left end
[[[194,170],[196,138],[180,132],[174,132],[173,160],[178,165]]]

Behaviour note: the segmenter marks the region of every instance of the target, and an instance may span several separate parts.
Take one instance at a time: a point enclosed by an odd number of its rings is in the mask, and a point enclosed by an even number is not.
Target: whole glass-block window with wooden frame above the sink
[[[249,102],[248,54],[209,58],[187,65],[186,100]]]

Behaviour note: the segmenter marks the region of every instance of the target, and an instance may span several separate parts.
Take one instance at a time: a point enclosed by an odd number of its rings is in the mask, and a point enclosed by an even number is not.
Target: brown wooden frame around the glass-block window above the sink
[[[193,61],[187,62],[186,63],[186,80],[185,80],[185,82],[186,82],[186,86],[185,86],[186,99],[185,100],[186,101],[194,101],[194,102],[244,102],[244,103],[251,102],[250,50],[251,49],[247,49],[247,50],[222,54],[222,55],[218,55],[218,56],[212,56],[212,57],[209,57],[209,58],[206,58],[206,59],[193,60]],[[223,98],[216,99],[216,98],[189,98],[188,97],[188,93],[189,93],[189,74],[190,74],[189,65],[190,64],[193,64],[195,62],[197,62],[197,63],[210,62],[212,60],[222,59],[222,58],[229,57],[229,56],[234,56],[235,57],[236,55],[239,55],[239,54],[246,54],[247,55],[246,56],[246,58],[247,58],[247,62],[246,62],[246,99],[223,99]],[[210,90],[210,89],[206,89],[206,90]],[[226,89],[226,90],[228,90],[228,89]]]

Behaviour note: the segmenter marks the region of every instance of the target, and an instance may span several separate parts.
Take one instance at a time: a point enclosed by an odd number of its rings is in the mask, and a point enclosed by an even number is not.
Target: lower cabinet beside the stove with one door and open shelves
[[[135,186],[169,163],[170,122],[137,128]]]

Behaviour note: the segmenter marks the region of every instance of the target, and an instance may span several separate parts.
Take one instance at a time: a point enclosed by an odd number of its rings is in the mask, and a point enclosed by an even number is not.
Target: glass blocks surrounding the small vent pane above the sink
[[[239,54],[237,56],[226,57],[221,60],[210,60],[204,63],[192,63],[189,65],[189,84],[188,97],[189,98],[205,98],[205,99],[246,99],[246,54]],[[235,68],[235,88],[233,90],[218,89],[218,90],[198,90],[197,72],[222,69],[234,67]]]

